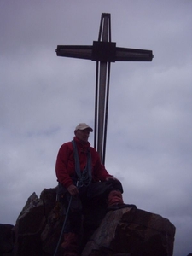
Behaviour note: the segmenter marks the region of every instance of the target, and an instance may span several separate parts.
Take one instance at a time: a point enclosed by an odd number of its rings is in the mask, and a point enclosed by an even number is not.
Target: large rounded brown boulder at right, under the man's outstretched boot
[[[174,235],[175,227],[168,219],[126,207],[108,212],[82,256],[172,256]]]

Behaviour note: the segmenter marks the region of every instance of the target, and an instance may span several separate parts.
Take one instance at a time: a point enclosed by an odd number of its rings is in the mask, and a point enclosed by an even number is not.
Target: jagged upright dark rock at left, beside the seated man
[[[15,256],[42,256],[41,234],[55,206],[56,189],[44,189],[40,199],[33,193],[26,201],[15,224]]]

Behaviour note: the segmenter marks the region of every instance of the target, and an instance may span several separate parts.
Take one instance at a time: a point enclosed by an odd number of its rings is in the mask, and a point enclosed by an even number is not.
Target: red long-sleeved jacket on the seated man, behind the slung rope
[[[90,143],[80,143],[77,137],[74,137],[79,153],[80,170],[84,170],[87,162],[87,150],[90,148],[92,162],[92,181],[104,181],[107,177],[112,177],[102,165],[99,154],[95,148],[90,147]],[[58,152],[56,159],[56,177],[58,181],[66,188],[73,184],[72,177],[75,176],[75,160],[73,155],[72,142],[64,143]]]

